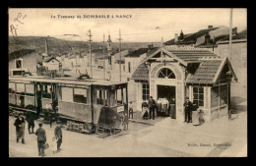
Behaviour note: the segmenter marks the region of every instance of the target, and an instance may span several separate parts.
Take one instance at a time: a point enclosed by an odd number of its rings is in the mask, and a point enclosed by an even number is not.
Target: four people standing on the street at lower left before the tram
[[[26,144],[25,126],[27,121],[29,134],[35,134],[35,136],[37,137],[38,155],[45,156],[44,149],[46,144],[46,133],[45,133],[45,130],[42,128],[42,123],[38,123],[39,128],[36,130],[35,133],[33,132],[34,120],[35,120],[35,115],[32,112],[27,112],[26,116],[24,116],[22,113],[19,114],[19,117],[15,120],[15,123],[14,123],[14,126],[16,127],[17,143],[19,143],[19,140],[22,139],[22,143]],[[54,130],[54,138],[52,138],[52,141],[51,141],[51,147],[52,147],[53,153],[59,152],[61,150],[60,148],[61,143],[62,143],[61,124],[58,124]]]

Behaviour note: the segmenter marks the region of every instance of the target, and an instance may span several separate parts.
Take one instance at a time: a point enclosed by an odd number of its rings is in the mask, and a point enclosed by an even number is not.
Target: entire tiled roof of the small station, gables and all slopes
[[[199,64],[199,67],[196,69],[195,73],[189,74],[187,83],[215,83],[217,76],[220,75],[220,71],[222,71],[222,68],[224,67],[224,63],[228,62],[228,60],[226,58],[221,59],[221,57],[218,57],[216,54],[206,49],[187,47],[182,48],[183,49],[176,46],[165,46],[163,48],[159,48],[155,52],[152,52],[151,55],[141,61],[131,79],[135,81],[149,81],[149,70],[145,63],[162,50],[164,53],[185,66],[187,66],[189,63]],[[231,69],[230,64],[229,68]],[[233,73],[232,69],[231,71]],[[234,73],[233,76],[235,77]]]

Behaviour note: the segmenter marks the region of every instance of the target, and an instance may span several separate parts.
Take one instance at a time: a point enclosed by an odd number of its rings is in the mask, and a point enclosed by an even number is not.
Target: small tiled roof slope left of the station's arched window
[[[141,64],[132,76],[135,81],[149,81],[149,69],[145,64]]]

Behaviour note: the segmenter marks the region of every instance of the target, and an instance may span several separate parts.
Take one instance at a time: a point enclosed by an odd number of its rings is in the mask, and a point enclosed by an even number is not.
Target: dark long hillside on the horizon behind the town
[[[42,36],[9,36],[9,54],[21,50],[32,49],[38,53],[45,52],[45,38]],[[122,42],[122,49],[136,50],[138,48],[147,47],[151,42]],[[153,43],[154,46],[160,46],[160,43]],[[92,49],[101,48],[102,43],[92,42]],[[113,49],[119,48],[118,42],[112,42]],[[89,42],[87,41],[71,41],[48,37],[48,52],[52,55],[62,55],[67,53],[89,51]]]

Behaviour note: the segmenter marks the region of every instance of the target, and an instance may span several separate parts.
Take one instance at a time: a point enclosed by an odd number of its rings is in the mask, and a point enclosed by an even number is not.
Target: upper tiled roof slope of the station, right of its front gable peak
[[[217,57],[213,52],[202,49],[202,48],[194,48],[194,47],[180,47],[175,48],[172,46],[165,46],[166,50],[171,52],[176,57],[187,63],[198,62],[202,57]]]

